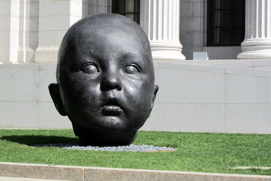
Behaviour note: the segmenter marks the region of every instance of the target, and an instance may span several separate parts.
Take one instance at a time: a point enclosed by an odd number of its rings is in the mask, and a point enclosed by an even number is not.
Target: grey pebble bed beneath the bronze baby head
[[[160,147],[154,145],[140,145],[140,144],[129,144],[127,146],[86,146],[71,143],[56,143],[56,144],[36,144],[32,147],[59,147],[65,149],[79,149],[79,150],[94,150],[94,151],[132,151],[132,152],[143,152],[143,151],[175,151],[176,148],[171,147]]]

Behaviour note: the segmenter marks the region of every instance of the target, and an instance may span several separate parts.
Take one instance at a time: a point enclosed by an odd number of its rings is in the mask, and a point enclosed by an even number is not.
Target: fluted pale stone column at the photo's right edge
[[[245,3],[245,39],[237,59],[271,59],[271,1]]]

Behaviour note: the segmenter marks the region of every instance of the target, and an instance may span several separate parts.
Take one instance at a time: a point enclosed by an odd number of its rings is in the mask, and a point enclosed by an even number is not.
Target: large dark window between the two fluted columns
[[[245,37],[245,0],[207,1],[207,46],[240,46]]]

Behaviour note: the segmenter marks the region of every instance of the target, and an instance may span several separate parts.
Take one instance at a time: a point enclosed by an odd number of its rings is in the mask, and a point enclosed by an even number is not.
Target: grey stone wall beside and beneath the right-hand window
[[[206,46],[207,1],[180,1],[180,42],[186,60],[193,60],[193,52],[207,52],[209,60],[237,59],[241,46]]]

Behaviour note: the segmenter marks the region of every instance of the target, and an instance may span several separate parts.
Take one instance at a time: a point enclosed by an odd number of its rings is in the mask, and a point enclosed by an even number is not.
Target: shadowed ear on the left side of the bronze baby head
[[[67,113],[64,109],[63,103],[60,98],[60,91],[58,84],[52,83],[48,86],[49,92],[51,95],[51,98],[55,104],[55,108],[58,110],[58,113],[61,114],[62,116],[67,116]]]

